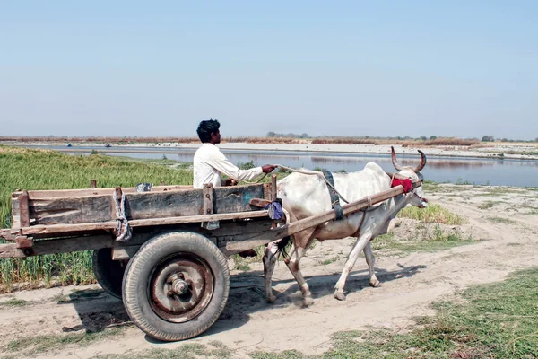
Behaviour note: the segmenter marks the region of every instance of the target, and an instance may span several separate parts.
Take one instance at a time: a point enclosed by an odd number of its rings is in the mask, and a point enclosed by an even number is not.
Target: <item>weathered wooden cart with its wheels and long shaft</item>
[[[115,192],[125,196],[123,213],[117,213]],[[371,204],[403,192],[402,186],[390,188],[372,196]],[[223,188],[14,192],[13,225],[0,231],[8,241],[0,244],[0,258],[94,250],[99,284],[123,299],[138,328],[161,340],[183,340],[210,328],[224,309],[230,291],[227,256],[334,219],[331,210],[274,228],[261,208],[275,197],[274,175],[271,183]],[[343,213],[368,206],[363,198],[343,206]],[[133,233],[128,241],[117,241],[122,215]]]

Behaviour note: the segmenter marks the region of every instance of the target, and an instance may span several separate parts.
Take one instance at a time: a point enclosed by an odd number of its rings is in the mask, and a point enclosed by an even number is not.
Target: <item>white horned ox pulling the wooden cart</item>
[[[401,167],[396,161],[394,148],[392,149],[392,160],[395,169],[400,176],[412,180],[421,178],[420,171],[426,164],[426,156],[421,153],[421,164],[412,167]],[[364,170],[352,173],[333,173],[334,188],[350,202],[359,200],[365,196],[372,196],[378,192],[391,188],[391,178],[376,163],[369,162]],[[307,175],[299,172],[291,173],[290,176],[279,181],[278,197],[282,198],[282,206],[289,213],[289,222],[299,221],[311,215],[321,215],[332,208],[329,191],[323,180],[319,176]],[[342,202],[342,200],[341,200]],[[345,203],[343,203],[345,204]],[[400,195],[386,200],[381,206],[367,211],[357,212],[343,217],[340,221],[329,221],[298,232],[293,236],[293,245],[289,253],[289,260],[286,265],[290,268],[291,274],[297,280],[303,295],[303,304],[308,306],[312,302],[312,297],[308,284],[302,276],[299,268],[299,261],[314,239],[318,241],[339,240],[345,237],[357,237],[358,240],[353,245],[351,252],[343,267],[342,275],[334,286],[334,297],[344,300],[343,287],[351,268],[354,266],[360,252],[364,250],[366,262],[369,266],[369,284],[379,286],[374,272],[375,258],[372,253],[370,241],[377,235],[387,232],[388,225],[395,215],[404,206],[426,207],[428,200],[422,195],[422,188],[413,189],[407,195]],[[365,218],[363,216],[366,215]],[[265,272],[265,296],[268,302],[276,299],[271,287],[274,265],[278,256],[277,248],[282,248],[281,243],[270,243],[264,255]]]

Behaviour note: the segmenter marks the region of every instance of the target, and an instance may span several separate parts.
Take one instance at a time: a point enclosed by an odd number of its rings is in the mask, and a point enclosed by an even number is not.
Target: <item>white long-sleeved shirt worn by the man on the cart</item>
[[[213,183],[213,187],[221,187],[223,184],[221,173],[234,180],[253,180],[263,173],[261,167],[239,170],[214,144],[202,144],[196,150],[194,171],[194,188],[204,188],[205,183]]]

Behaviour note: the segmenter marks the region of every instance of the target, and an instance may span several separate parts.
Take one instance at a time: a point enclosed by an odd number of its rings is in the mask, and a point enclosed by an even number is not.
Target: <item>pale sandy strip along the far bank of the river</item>
[[[51,143],[14,143],[4,142],[6,145],[48,145]],[[77,147],[95,147],[102,153],[128,152],[132,147],[147,148],[187,148],[195,149],[196,144],[160,143],[160,144],[114,144],[105,147],[105,144],[77,143],[67,147],[65,143],[54,144],[65,146],[65,151],[76,151]],[[245,150],[245,151],[286,151],[286,152],[310,152],[310,153],[390,153],[390,145],[387,144],[248,144],[248,143],[223,143],[221,149]],[[531,143],[493,143],[483,144],[481,147],[468,146],[429,146],[429,147],[403,147],[395,145],[398,154],[416,154],[421,149],[428,156],[447,157],[478,157],[478,158],[503,158],[538,160],[538,144]],[[531,154],[529,154],[531,153]],[[534,154],[533,154],[534,153]]]

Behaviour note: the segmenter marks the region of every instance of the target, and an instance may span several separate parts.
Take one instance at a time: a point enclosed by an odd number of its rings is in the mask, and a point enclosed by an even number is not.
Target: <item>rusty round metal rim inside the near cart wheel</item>
[[[213,291],[213,272],[207,262],[192,253],[176,253],[153,270],[148,298],[163,320],[184,323],[204,311]]]

